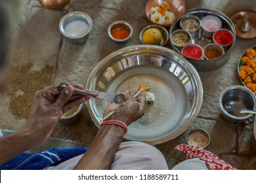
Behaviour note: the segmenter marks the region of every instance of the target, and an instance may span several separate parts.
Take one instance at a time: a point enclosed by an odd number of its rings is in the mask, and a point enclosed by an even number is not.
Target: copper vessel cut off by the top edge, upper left
[[[39,3],[41,3],[44,8],[60,10],[66,7],[66,5],[70,3],[70,0],[39,0]]]

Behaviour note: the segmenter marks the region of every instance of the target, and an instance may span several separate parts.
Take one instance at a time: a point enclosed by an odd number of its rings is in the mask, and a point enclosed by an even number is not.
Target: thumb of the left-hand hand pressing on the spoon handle
[[[62,108],[68,100],[72,97],[73,95],[73,88],[71,86],[67,86],[64,88],[61,92],[60,95],[58,95],[58,98],[55,101],[55,105],[58,108]]]

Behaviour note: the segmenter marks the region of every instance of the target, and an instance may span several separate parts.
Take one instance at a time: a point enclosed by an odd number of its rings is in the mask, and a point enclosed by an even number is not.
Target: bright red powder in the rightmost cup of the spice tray
[[[230,31],[221,29],[213,34],[213,41],[221,46],[228,46],[234,41],[234,36]]]

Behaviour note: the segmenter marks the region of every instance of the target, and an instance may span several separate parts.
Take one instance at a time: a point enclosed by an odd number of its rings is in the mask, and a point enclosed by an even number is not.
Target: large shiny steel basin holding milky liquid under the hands
[[[161,144],[181,135],[194,122],[203,101],[203,88],[194,67],[182,56],[162,46],[134,45],[102,59],[89,76],[86,88],[105,92],[138,90],[150,86],[156,101],[147,104],[142,118],[129,125],[124,139]],[[86,102],[100,127],[106,105]]]

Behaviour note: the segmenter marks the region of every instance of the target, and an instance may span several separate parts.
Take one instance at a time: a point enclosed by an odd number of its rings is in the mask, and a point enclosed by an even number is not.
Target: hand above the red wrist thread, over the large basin
[[[139,118],[144,115],[145,111],[145,103],[146,103],[146,92],[140,92],[140,95],[135,98],[133,95],[135,91],[125,91],[123,93],[125,95],[125,101],[120,105],[115,103],[109,104],[106,109],[104,110],[103,116],[106,116],[112,110],[116,110],[112,116],[107,118],[106,120],[119,120],[124,122],[126,125],[130,125],[131,123],[135,122]],[[140,101],[140,102],[139,102]],[[142,103],[143,101],[144,103]]]

